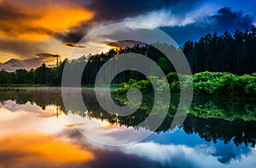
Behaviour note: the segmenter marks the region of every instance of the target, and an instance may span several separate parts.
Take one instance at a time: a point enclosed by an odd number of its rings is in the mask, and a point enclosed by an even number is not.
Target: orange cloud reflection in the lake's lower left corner
[[[74,143],[44,134],[0,137],[0,167],[60,166],[94,160],[94,154]]]

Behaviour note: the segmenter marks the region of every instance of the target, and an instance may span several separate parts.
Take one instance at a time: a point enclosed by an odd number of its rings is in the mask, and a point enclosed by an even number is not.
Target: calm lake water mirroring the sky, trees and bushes
[[[83,98],[88,111],[75,107],[67,111],[60,88],[0,92],[0,167],[256,165],[253,98],[195,98],[190,110],[193,115],[175,132],[170,130],[172,112],[154,131],[147,125],[137,126],[147,118],[150,107],[122,117],[104,111],[92,90],[83,90]],[[175,102],[178,100],[173,106]],[[149,134],[143,141],[123,147],[97,143],[132,143]]]

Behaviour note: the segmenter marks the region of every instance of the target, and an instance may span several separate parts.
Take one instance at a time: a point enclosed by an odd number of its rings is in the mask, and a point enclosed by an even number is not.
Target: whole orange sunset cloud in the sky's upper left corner
[[[81,7],[36,6],[0,3],[0,36],[26,41],[44,40],[56,32],[65,31],[91,20],[93,13]]]

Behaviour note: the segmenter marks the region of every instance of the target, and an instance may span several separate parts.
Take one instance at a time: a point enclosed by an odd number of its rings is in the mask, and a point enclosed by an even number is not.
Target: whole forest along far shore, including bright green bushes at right
[[[256,92],[255,73],[256,72],[256,29],[250,31],[236,31],[232,34],[224,32],[218,35],[216,32],[202,36],[198,41],[187,41],[183,48],[175,48],[166,43],[158,43],[160,48],[172,48],[174,51],[182,50],[185,54],[193,73],[195,91],[199,94],[222,94],[230,92],[224,85],[232,86],[232,92],[241,92],[242,95],[249,95]],[[132,48],[110,49],[107,53],[96,53],[94,55],[82,56],[79,59],[63,60],[58,66],[49,68],[42,64],[37,69],[15,70],[15,72],[0,71],[0,85],[10,86],[61,86],[61,76],[65,64],[79,66],[86,62],[82,77],[83,85],[93,85],[97,72],[102,65],[110,59],[116,59],[121,53],[140,53],[154,60],[170,82],[171,90],[178,90],[179,83],[172,82],[175,77],[175,70],[172,63],[166,59],[165,55],[152,45],[136,44]],[[122,66],[119,64],[119,67]],[[151,67],[148,67],[151,70]],[[152,70],[151,70],[152,71]],[[213,73],[216,72],[216,73]],[[199,77],[201,79],[199,80]],[[172,79],[170,79],[172,78]],[[146,80],[146,76],[136,70],[127,70],[116,76],[112,83],[120,84],[131,79],[134,83]],[[124,86],[124,85],[123,85]],[[219,87],[222,86],[222,87]],[[176,89],[173,89],[176,87]],[[237,87],[237,88],[236,88]],[[242,88],[239,89],[239,88]],[[237,94],[237,93],[236,93]]]

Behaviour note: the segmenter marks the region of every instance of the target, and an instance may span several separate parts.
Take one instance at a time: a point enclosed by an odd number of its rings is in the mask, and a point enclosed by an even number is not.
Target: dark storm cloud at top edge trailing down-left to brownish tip
[[[89,4],[84,4],[84,8],[91,10],[94,13],[92,20],[84,21],[79,26],[73,27],[68,31],[55,33],[55,37],[62,42],[79,42],[94,25],[108,25],[110,23],[125,20],[125,18],[133,18],[140,14],[147,14],[152,11],[157,11],[161,8],[172,10],[173,14],[182,14],[184,11],[195,8],[195,3],[200,0],[131,0],[119,1],[113,0],[111,3],[104,0],[91,1]]]

